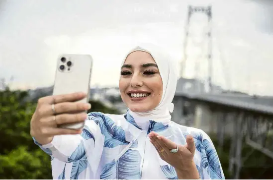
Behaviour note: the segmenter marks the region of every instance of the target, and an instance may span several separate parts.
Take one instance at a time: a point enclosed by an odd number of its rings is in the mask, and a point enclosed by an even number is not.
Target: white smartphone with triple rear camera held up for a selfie
[[[53,95],[85,92],[87,97],[79,102],[89,102],[93,60],[90,55],[63,54],[58,57]],[[62,124],[59,127],[81,129],[85,122]]]

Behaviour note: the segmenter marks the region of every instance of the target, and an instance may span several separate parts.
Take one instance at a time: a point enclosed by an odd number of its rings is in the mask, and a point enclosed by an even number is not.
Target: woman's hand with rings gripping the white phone
[[[76,102],[85,97],[84,93],[72,93],[40,98],[30,121],[31,136],[44,145],[50,143],[54,135],[80,134],[82,129],[59,128],[58,125],[83,122],[87,119],[85,111],[89,110],[91,105]],[[52,109],[53,104],[55,112]]]

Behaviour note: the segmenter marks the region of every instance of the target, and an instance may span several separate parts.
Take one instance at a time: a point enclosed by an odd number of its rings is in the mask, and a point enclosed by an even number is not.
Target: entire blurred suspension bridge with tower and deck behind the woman
[[[197,13],[207,17],[206,27],[199,34],[194,33],[191,28],[192,16]],[[178,81],[172,116],[180,124],[200,128],[207,133],[216,133],[220,147],[223,146],[225,137],[229,136],[229,172],[234,179],[240,179],[245,159],[253,152],[242,154],[243,143],[273,159],[273,97],[224,91],[213,85],[211,21],[211,6],[188,6],[181,78]],[[196,37],[201,41],[197,42]],[[188,51],[190,46],[202,51],[196,55],[196,52]],[[189,62],[194,66],[193,78],[184,77]],[[203,62],[207,64],[205,80],[200,78],[204,76],[200,73],[200,64]],[[222,64],[224,65],[223,58]],[[229,84],[227,73],[223,75],[226,84]]]

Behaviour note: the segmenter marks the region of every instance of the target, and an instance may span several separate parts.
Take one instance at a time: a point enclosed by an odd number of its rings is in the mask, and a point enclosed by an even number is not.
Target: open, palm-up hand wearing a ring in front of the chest
[[[151,132],[149,137],[161,159],[175,168],[179,179],[199,179],[199,173],[193,161],[195,144],[191,135],[186,136],[185,145],[177,145],[156,132]],[[177,146],[178,152],[171,152],[171,149],[177,149]]]

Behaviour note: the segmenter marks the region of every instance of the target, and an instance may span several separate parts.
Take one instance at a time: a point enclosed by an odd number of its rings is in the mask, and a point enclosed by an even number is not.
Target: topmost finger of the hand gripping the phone
[[[84,99],[87,96],[86,93],[77,92],[71,94],[62,94],[62,95],[55,95],[51,96],[52,102],[55,104],[63,103],[63,102],[75,102]]]

